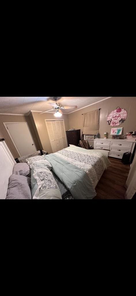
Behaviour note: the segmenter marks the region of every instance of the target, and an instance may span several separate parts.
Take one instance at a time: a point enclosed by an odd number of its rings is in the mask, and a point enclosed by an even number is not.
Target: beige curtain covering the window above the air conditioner
[[[83,114],[83,134],[96,135],[99,133],[99,109]]]

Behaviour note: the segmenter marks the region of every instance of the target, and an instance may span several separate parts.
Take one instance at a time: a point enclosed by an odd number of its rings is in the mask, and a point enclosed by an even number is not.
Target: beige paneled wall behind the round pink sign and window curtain
[[[89,107],[83,108],[79,111],[68,114],[69,128],[81,129],[83,131],[83,113],[93,111],[101,108],[100,110],[100,125],[99,134],[101,138],[104,138],[104,132],[108,133],[108,137],[112,138],[111,126],[106,122],[107,115],[116,107],[121,107],[127,110],[127,119],[120,125],[123,127],[122,136],[129,131],[136,131],[136,97],[112,97],[102,102],[96,103]]]

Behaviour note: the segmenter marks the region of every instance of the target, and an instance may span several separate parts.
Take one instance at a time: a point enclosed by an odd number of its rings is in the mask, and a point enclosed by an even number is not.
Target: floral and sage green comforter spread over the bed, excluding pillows
[[[45,159],[74,199],[92,199],[96,196],[96,185],[110,165],[108,153],[108,150],[88,150],[70,145],[46,155]]]

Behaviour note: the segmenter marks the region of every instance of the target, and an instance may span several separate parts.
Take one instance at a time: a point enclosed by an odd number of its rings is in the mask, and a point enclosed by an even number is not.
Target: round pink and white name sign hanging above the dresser
[[[123,108],[117,107],[107,116],[107,123],[110,126],[119,126],[127,118],[127,111]]]

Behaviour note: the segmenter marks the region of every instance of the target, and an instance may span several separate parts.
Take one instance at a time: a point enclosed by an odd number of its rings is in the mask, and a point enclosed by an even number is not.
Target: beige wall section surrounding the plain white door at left
[[[29,118],[29,116],[24,115],[0,115],[0,138],[4,138],[7,146],[9,147],[9,150],[11,151],[14,158],[19,157],[19,154],[17,150],[15,149],[12,140],[9,137],[9,134],[6,131],[6,128],[3,125],[3,122],[27,122],[30,128],[30,131],[32,133],[33,140],[35,142],[35,145],[37,147],[37,150],[40,149],[39,143],[37,141],[37,137],[34,131],[34,128],[32,126],[32,122]]]

